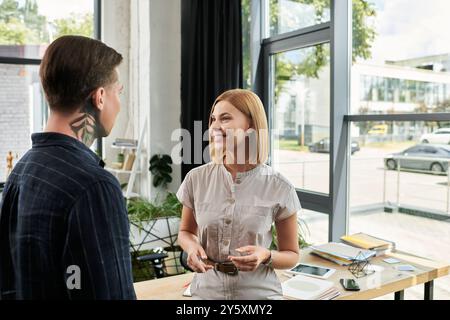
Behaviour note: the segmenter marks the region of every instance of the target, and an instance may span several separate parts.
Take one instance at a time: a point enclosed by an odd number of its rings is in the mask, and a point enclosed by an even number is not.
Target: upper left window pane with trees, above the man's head
[[[0,56],[42,58],[66,35],[94,36],[93,0],[0,0]]]

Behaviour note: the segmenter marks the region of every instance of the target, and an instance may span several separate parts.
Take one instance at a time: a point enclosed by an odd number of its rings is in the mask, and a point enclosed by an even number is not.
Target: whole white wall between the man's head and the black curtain
[[[121,66],[125,94],[116,128],[105,139],[107,163],[116,150],[109,146],[116,137],[138,139],[149,119],[142,158],[143,172],[136,182],[142,196],[158,194],[151,185],[148,160],[156,153],[170,154],[175,145],[172,131],[180,127],[181,0],[104,0],[103,39],[124,56]],[[173,165],[176,191],[181,168]],[[125,176],[126,178],[126,176]]]

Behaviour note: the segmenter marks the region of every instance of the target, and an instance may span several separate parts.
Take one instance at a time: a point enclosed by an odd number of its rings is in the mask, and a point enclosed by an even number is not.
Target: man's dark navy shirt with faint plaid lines
[[[0,299],[135,299],[117,179],[72,137],[32,141],[0,204]]]

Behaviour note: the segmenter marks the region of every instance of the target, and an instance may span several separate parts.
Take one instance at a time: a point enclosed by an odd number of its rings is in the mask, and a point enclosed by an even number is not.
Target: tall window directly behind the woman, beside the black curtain
[[[329,3],[242,2],[243,70],[249,79],[244,86],[263,99],[269,117],[269,162],[296,187],[304,208],[299,222],[310,244],[326,242],[331,223]]]

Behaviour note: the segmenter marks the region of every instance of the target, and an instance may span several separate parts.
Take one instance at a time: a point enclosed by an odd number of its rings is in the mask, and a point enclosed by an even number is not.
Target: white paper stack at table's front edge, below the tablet
[[[297,275],[281,284],[283,296],[295,300],[331,300],[340,293],[331,281]]]

